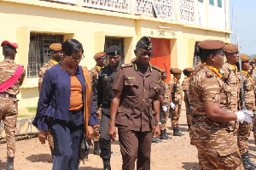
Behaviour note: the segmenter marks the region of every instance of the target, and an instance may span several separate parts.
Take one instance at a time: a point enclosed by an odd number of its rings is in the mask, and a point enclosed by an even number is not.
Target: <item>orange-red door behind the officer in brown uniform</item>
[[[150,59],[151,65],[156,65],[160,69],[166,69],[167,79],[166,82],[171,80],[171,44],[170,39],[164,38],[151,38],[153,47],[153,57]]]

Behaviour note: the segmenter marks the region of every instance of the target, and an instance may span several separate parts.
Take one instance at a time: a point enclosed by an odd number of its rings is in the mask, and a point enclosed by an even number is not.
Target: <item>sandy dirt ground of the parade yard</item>
[[[167,133],[172,136],[170,119],[167,122]],[[152,170],[179,170],[198,169],[197,150],[189,144],[189,133],[186,126],[185,111],[182,111],[180,130],[185,133],[183,137],[173,137],[163,140],[162,143],[152,144],[151,169]],[[51,169],[52,162],[48,144],[40,144],[38,138],[16,141],[15,170],[42,170]],[[256,162],[256,146],[253,143],[253,133],[249,139],[249,150],[252,161]],[[112,144],[113,155],[111,167],[120,170],[122,158],[119,150],[119,142]],[[6,144],[0,144],[0,169],[3,169],[6,161]],[[100,170],[103,168],[102,159],[93,154],[79,170]]]

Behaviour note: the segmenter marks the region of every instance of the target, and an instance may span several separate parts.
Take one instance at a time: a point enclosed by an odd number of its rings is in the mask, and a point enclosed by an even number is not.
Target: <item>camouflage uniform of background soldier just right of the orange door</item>
[[[176,90],[174,89],[175,85],[177,86]],[[173,90],[175,90],[174,96],[172,95],[172,103],[175,105],[175,111],[172,110],[172,127],[178,127],[178,120],[181,114],[181,105],[183,101],[183,88],[174,77],[172,80],[168,83],[168,87],[170,89],[171,94],[174,93]]]

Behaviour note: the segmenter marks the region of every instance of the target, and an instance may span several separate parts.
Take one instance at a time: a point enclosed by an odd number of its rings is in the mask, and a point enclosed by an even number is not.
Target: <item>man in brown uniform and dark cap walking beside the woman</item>
[[[153,56],[150,37],[142,37],[134,53],[137,59],[121,65],[113,83],[113,100],[108,134],[115,139],[119,130],[119,143],[123,170],[150,169],[151,132],[160,135],[160,95],[163,92],[161,73],[149,65]]]

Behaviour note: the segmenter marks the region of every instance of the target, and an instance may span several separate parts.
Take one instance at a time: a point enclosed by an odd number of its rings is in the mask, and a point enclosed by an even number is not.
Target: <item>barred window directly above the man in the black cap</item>
[[[104,47],[105,53],[107,49],[113,45],[118,46],[121,49],[120,62],[124,64],[125,63],[125,38],[124,37],[105,37],[105,47]]]

